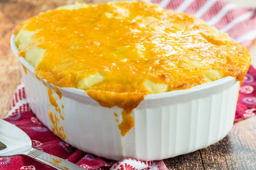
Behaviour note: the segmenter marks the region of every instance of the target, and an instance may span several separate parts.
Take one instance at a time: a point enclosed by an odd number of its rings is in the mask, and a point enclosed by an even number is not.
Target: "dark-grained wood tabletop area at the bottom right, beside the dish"
[[[164,160],[168,169],[256,169],[256,118],[234,124],[218,143]]]

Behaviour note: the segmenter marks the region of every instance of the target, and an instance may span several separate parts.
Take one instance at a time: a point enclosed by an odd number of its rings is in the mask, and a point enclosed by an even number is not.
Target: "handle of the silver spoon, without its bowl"
[[[49,165],[52,168],[58,169],[58,170],[85,170],[84,168],[69,162],[65,159],[56,157],[54,155],[51,154],[47,154],[43,151],[39,151],[37,149],[31,148],[30,150],[28,150],[27,152],[23,153],[22,155],[26,155],[29,156],[31,158],[34,158],[35,160]]]

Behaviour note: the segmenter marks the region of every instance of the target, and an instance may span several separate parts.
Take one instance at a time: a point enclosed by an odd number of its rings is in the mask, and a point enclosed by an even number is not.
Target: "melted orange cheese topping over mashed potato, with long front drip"
[[[122,135],[146,95],[225,76],[242,82],[251,61],[227,34],[149,2],[67,5],[24,21],[14,34],[19,56],[35,67],[36,76],[86,90],[102,106],[122,108]]]

